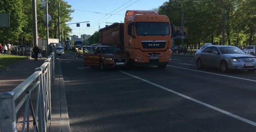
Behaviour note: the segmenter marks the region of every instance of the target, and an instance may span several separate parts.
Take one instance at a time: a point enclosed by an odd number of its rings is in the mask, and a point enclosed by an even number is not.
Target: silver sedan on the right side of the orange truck
[[[195,63],[198,68],[204,66],[217,67],[221,71],[227,70],[256,70],[256,58],[246,54],[235,46],[212,45],[195,54]]]

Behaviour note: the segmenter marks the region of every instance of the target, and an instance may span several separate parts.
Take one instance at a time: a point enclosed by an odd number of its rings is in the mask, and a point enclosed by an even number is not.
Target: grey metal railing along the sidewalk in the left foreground
[[[43,65],[35,68],[35,72],[25,81],[11,92],[0,94],[0,132],[16,132],[17,123],[22,123],[22,132],[29,132],[30,129],[33,132],[46,132],[47,122],[51,119],[55,58],[52,52]],[[18,112],[23,116],[22,121],[17,119]]]

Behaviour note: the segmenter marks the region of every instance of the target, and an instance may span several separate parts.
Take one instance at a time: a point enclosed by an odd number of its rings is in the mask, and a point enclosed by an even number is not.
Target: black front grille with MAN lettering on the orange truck
[[[166,41],[141,41],[141,44],[144,49],[160,49],[165,47]]]

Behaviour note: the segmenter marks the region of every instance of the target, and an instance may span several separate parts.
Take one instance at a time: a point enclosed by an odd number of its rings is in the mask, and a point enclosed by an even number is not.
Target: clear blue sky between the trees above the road
[[[80,27],[76,24],[70,24],[72,34],[80,37],[80,35],[93,35],[94,32],[106,25],[114,22],[123,22],[126,10],[152,10],[163,5],[168,0],[64,0],[71,5],[71,9],[75,10],[71,13],[73,17],[71,22],[80,23]],[[89,21],[89,22],[87,22]],[[87,27],[90,23],[90,27]]]

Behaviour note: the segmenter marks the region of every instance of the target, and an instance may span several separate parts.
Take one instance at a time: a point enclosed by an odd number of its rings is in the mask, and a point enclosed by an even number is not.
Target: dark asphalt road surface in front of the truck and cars
[[[91,69],[60,57],[72,132],[255,132],[256,72],[198,69],[193,57]]]

